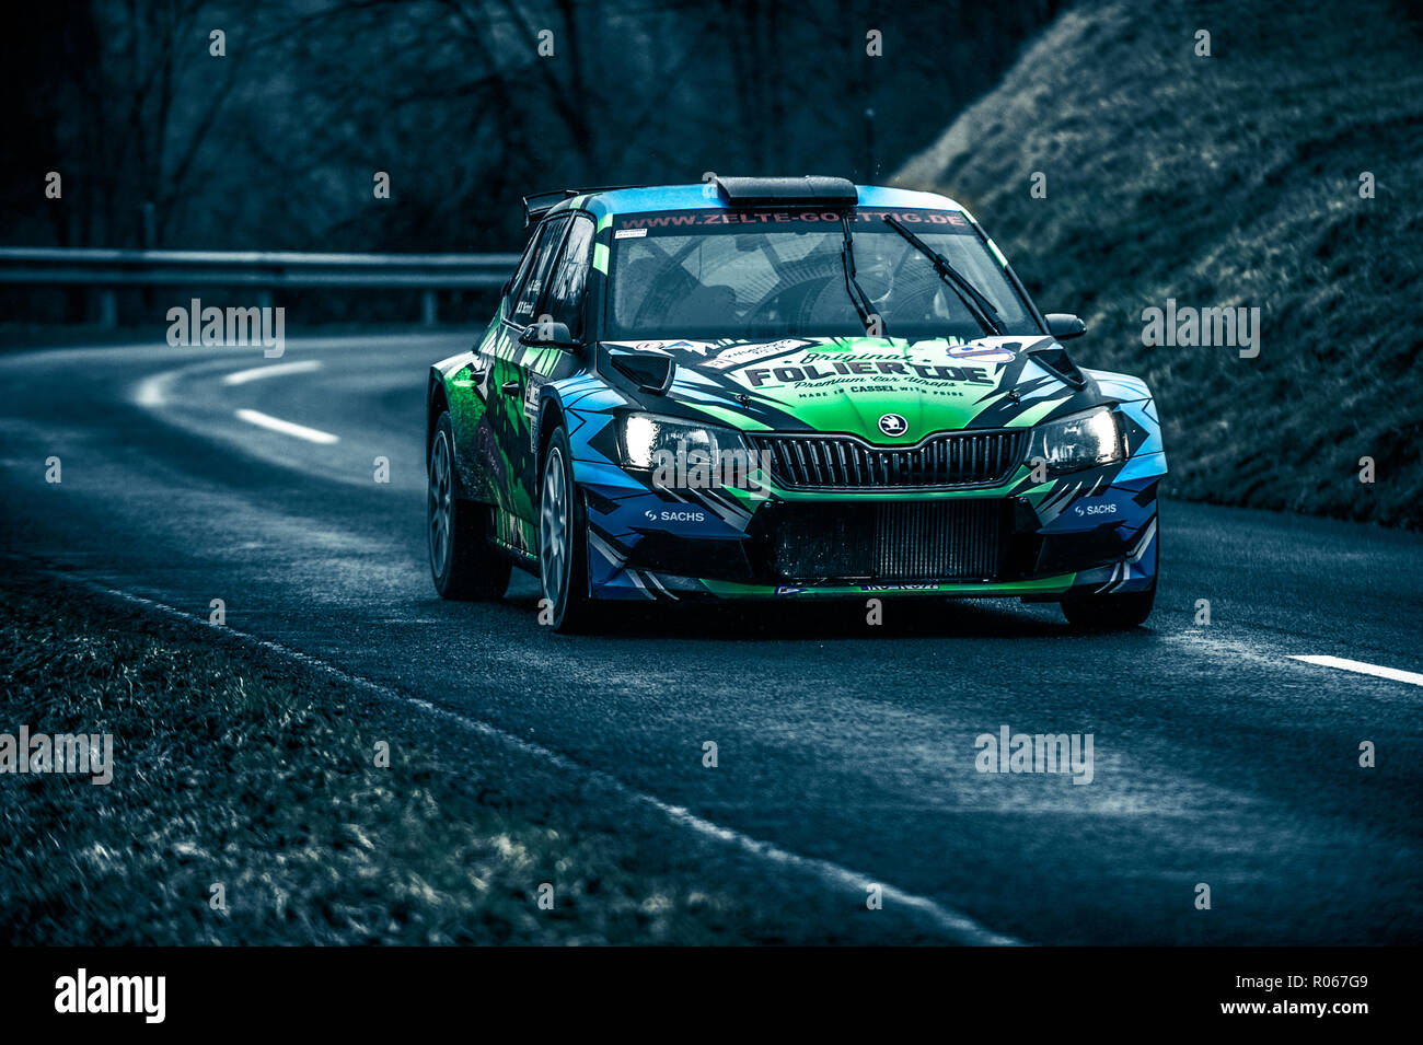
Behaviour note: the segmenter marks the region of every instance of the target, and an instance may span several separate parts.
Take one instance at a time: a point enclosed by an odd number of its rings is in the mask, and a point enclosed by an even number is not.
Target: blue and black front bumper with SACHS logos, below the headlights
[[[1127,462],[1130,463],[1130,461]],[[1155,579],[1160,475],[1080,473],[1005,491],[895,496],[655,491],[588,483],[598,599],[1056,599]],[[1006,486],[1012,486],[1007,483]]]

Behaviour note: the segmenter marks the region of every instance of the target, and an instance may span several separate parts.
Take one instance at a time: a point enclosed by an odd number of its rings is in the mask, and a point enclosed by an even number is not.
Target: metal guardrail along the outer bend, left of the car
[[[421,320],[438,321],[435,291],[498,287],[518,254],[322,254],[232,250],[0,247],[0,284],[90,286],[100,321],[118,321],[115,290],[135,286],[256,287],[259,304],[279,287],[420,290]]]

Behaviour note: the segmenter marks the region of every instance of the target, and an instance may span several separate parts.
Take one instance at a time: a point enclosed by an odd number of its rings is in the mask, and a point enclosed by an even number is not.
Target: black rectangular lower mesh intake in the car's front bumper
[[[993,580],[1003,559],[999,498],[777,505],[771,570],[787,582]]]

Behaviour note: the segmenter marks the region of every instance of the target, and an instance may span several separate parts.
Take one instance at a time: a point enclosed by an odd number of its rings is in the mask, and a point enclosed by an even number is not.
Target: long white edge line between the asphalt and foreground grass
[[[75,577],[65,573],[53,573],[51,576],[61,580],[68,580],[77,584],[83,584],[94,591],[102,591],[115,599],[122,599],[127,603],[135,603],[138,606],[148,607],[149,610],[157,610],[169,617],[176,617],[178,620],[188,621],[189,624],[199,624],[205,628],[211,628],[212,624],[208,623],[206,617],[198,614],[185,613],[176,607],[168,606],[166,603],[159,603],[154,599],[145,599],[142,596],[129,594],[128,591],[121,591],[118,589],[105,587],[92,580],[85,580],[84,577]],[[684,806],[675,806],[663,802],[659,798],[647,795],[646,792],[638,791],[636,788],[623,783],[616,776],[603,772],[602,769],[592,769],[581,762],[575,762],[566,755],[559,755],[556,751],[545,748],[541,744],[534,744],[532,741],[525,741],[521,736],[505,732],[497,725],[490,725],[477,718],[470,718],[468,715],[461,715],[455,711],[448,711],[445,708],[437,707],[430,701],[421,700],[420,697],[410,697],[398,690],[393,690],[388,685],[381,685],[380,682],[373,682],[369,678],[361,678],[360,675],[353,675],[349,671],[343,671],[333,664],[317,660],[310,654],[292,650],[282,645],[280,643],[273,643],[269,638],[258,638],[256,636],[248,634],[246,631],[238,631],[236,628],[223,627],[222,631],[233,638],[268,650],[269,653],[279,654],[282,657],[289,657],[309,668],[320,671],[324,675],[337,678],[347,685],[354,685],[369,692],[374,692],[387,700],[400,701],[420,708],[421,711],[435,715],[438,718],[455,722],[471,732],[477,732],[481,736],[505,744],[525,755],[532,755],[534,758],[548,762],[565,772],[582,773],[588,779],[608,788],[616,795],[623,796],[630,802],[638,805],[649,806],[659,813],[667,816],[676,823],[690,827],[699,835],[716,839],[719,842],[730,843],[740,849],[741,852],[758,856],[771,863],[780,864],[783,867],[791,867],[801,874],[808,874],[820,879],[822,883],[838,889],[841,891],[850,893],[857,897],[858,903],[864,903],[865,887],[871,883],[881,886],[884,899],[888,903],[895,903],[902,907],[909,907],[919,914],[922,914],[928,921],[932,921],[938,928],[941,928],[948,936],[953,937],[959,943],[970,945],[996,945],[996,947],[1019,947],[1023,944],[1022,940],[1016,940],[1010,936],[1003,936],[995,933],[990,928],[980,926],[973,921],[968,914],[962,914],[952,907],[945,907],[925,896],[918,896],[915,893],[906,893],[902,889],[891,886],[872,874],[862,874],[859,872],[851,870],[848,867],[841,867],[838,863],[831,863],[830,860],[822,860],[814,856],[800,856],[798,853],[791,853],[780,846],[774,846],[770,842],[761,842],[750,835],[743,835],[731,827],[723,827],[712,820],[706,820],[696,813],[687,810]]]

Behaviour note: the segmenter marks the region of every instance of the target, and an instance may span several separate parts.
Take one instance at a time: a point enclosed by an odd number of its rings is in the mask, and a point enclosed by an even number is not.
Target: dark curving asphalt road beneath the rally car
[[[233,628],[992,934],[1423,941],[1423,678],[1295,660],[1423,671],[1420,536],[1168,502],[1155,614],[1120,636],[1010,601],[887,601],[881,627],[858,604],[679,609],[555,636],[525,574],[491,606],[431,587],[425,371],[471,340],[0,357],[3,550],[202,617],[221,597]],[[978,772],[976,736],[1003,725],[1091,734],[1091,782]]]

